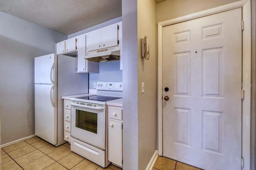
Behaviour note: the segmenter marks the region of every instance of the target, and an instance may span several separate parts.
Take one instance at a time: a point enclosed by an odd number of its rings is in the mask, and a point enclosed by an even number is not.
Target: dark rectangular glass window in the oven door
[[[97,134],[97,113],[76,109],[76,127]]]

